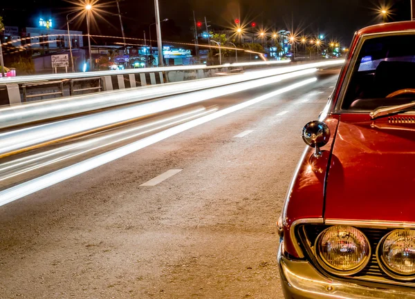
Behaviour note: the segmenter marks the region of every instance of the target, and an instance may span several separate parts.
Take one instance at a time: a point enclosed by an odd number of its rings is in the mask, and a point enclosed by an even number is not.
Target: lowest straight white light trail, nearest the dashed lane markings
[[[275,90],[272,93],[267,93],[266,95],[261,95],[261,97],[256,97],[255,99],[250,99],[241,104],[237,104],[235,106],[231,106],[223,110],[219,110],[215,113],[205,115],[198,119],[191,120],[190,122],[179,124],[178,126],[174,126],[173,128],[168,128],[167,130],[162,131],[160,133],[156,133],[144,139],[140,139],[137,142],[133,142],[131,144],[127,144],[126,146],[116,148],[107,153],[103,153],[101,155],[91,157],[82,162],[78,162],[77,164],[73,164],[71,166],[61,168],[52,173],[48,173],[47,175],[42,175],[42,177],[37,177],[33,180],[24,182],[22,184],[12,186],[9,189],[0,191],[0,206],[3,206],[4,204],[8,204],[9,202],[12,202],[14,200],[18,200],[19,198],[24,197],[26,195],[45,189],[49,186],[53,186],[54,184],[57,184],[59,182],[63,182],[64,180],[68,180],[71,177],[75,177],[75,175],[80,175],[82,173],[85,173],[86,171],[90,171],[93,168],[97,168],[101,165],[117,160],[120,157],[124,157],[131,153],[139,151],[142,148],[146,148],[147,146],[155,144],[156,142],[160,142],[161,140],[177,135],[178,133],[187,131],[190,128],[194,128],[195,126],[205,124],[207,122],[212,121],[213,119],[216,119],[224,115],[233,113],[235,111],[241,110],[243,108],[255,105],[259,102],[265,101],[266,99],[270,99],[271,97],[281,95],[282,93],[287,93],[288,91],[294,90],[296,88],[300,88],[302,86],[306,86],[307,84],[311,84],[315,81],[317,81],[316,77],[311,78],[311,79],[306,79],[303,81],[299,81],[296,84],[292,84],[287,87]]]

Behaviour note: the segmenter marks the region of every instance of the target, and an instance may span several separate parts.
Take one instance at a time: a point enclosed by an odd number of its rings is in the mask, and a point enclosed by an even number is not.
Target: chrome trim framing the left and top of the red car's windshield
[[[333,108],[333,113],[344,113],[344,110],[342,110],[342,104],[344,101],[344,95],[346,94],[347,88],[349,88],[350,78],[353,73],[353,68],[356,67],[356,61],[358,60],[358,55],[356,55],[356,52],[360,53],[360,50],[362,49],[362,45],[365,41],[367,41],[367,39],[374,39],[376,37],[381,37],[382,35],[388,36],[388,35],[414,35],[414,34],[415,34],[415,30],[400,30],[400,31],[389,31],[389,32],[376,32],[376,33],[361,35],[359,37],[358,44],[353,50],[353,56],[351,57],[349,67],[347,68],[347,73],[344,76],[343,84],[341,86],[338,99]],[[346,112],[351,113],[352,111],[346,110]]]

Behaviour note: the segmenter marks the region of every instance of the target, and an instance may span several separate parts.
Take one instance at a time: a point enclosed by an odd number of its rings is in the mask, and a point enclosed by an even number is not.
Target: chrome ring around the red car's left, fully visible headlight
[[[343,226],[343,225],[340,225],[340,226]],[[327,230],[333,229],[333,227],[335,226],[330,226],[327,229],[324,229],[324,231],[322,231],[315,239],[315,244],[314,244],[315,258],[317,259],[318,264],[321,267],[323,267],[324,270],[328,271],[329,273],[333,273],[337,276],[351,276],[365,269],[365,267],[371,260],[371,244],[369,240],[367,239],[367,236],[365,235],[365,233],[362,233],[362,231],[360,231],[354,226],[344,226],[344,227],[349,228],[349,229],[356,229],[356,231],[358,231],[362,235],[362,237],[365,238],[365,241],[367,244],[367,252],[364,258],[362,258],[362,261],[356,267],[353,267],[352,269],[349,269],[349,270],[343,270],[340,268],[336,268],[333,265],[329,264],[329,262],[326,261],[326,259],[322,256],[322,253],[320,252],[320,244],[321,244],[320,241],[321,241],[322,235],[324,235],[324,233],[326,233]]]

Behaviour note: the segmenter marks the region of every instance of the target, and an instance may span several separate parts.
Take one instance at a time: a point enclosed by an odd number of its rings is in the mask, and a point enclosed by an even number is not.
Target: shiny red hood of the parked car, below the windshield
[[[372,122],[369,116],[341,115],[324,218],[415,222],[414,211],[414,119],[396,115]]]

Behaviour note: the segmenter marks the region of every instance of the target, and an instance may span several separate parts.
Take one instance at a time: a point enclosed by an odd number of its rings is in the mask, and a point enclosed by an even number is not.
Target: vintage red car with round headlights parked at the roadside
[[[286,298],[415,298],[415,21],[356,33],[278,221]]]

